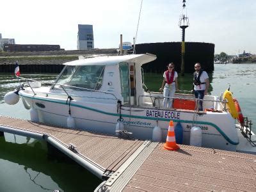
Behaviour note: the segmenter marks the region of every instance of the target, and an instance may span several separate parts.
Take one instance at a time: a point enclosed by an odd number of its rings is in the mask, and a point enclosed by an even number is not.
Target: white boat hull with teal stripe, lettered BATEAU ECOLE
[[[22,95],[30,106],[36,109],[40,122],[67,127],[67,118],[74,118],[77,129],[86,131],[115,134],[116,124],[120,118],[116,104],[99,104],[47,97],[31,97]],[[124,127],[132,132],[133,138],[151,140],[152,130],[158,125],[162,131],[162,141],[166,140],[168,124],[180,122],[183,128],[182,144],[189,145],[190,131],[193,126],[202,129],[202,147],[219,148],[236,151],[239,143],[235,120],[230,113],[202,114],[186,110],[157,110],[154,108],[126,107],[121,108]]]

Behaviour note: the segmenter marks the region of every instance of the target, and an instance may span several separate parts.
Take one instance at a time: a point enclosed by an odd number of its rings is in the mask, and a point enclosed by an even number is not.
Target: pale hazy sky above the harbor
[[[2,38],[16,44],[77,47],[78,24],[92,24],[95,48],[133,42],[141,0],[8,0],[0,3]],[[143,0],[136,44],[180,42],[182,0]],[[186,42],[215,44],[215,54],[256,54],[255,0],[186,0]]]

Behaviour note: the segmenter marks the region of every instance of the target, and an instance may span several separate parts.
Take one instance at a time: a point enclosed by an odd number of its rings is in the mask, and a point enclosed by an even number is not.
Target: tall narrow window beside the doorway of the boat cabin
[[[120,63],[120,83],[121,95],[124,98],[124,103],[130,102],[130,85],[129,85],[129,65],[128,63]]]

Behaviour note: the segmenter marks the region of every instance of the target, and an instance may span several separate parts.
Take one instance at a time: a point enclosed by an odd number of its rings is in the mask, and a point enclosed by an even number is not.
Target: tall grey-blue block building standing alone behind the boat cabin
[[[93,26],[78,25],[77,50],[94,49]]]

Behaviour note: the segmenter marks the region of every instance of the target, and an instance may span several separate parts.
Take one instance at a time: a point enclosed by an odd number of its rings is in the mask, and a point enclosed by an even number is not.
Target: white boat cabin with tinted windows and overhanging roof
[[[139,95],[145,93],[141,65],[154,60],[156,56],[152,54],[132,54],[64,63],[65,67],[51,90],[65,88],[67,92],[79,92],[81,97],[91,94],[93,99],[102,99],[95,102],[109,102],[107,99],[113,99],[121,100],[124,105],[136,105]]]

